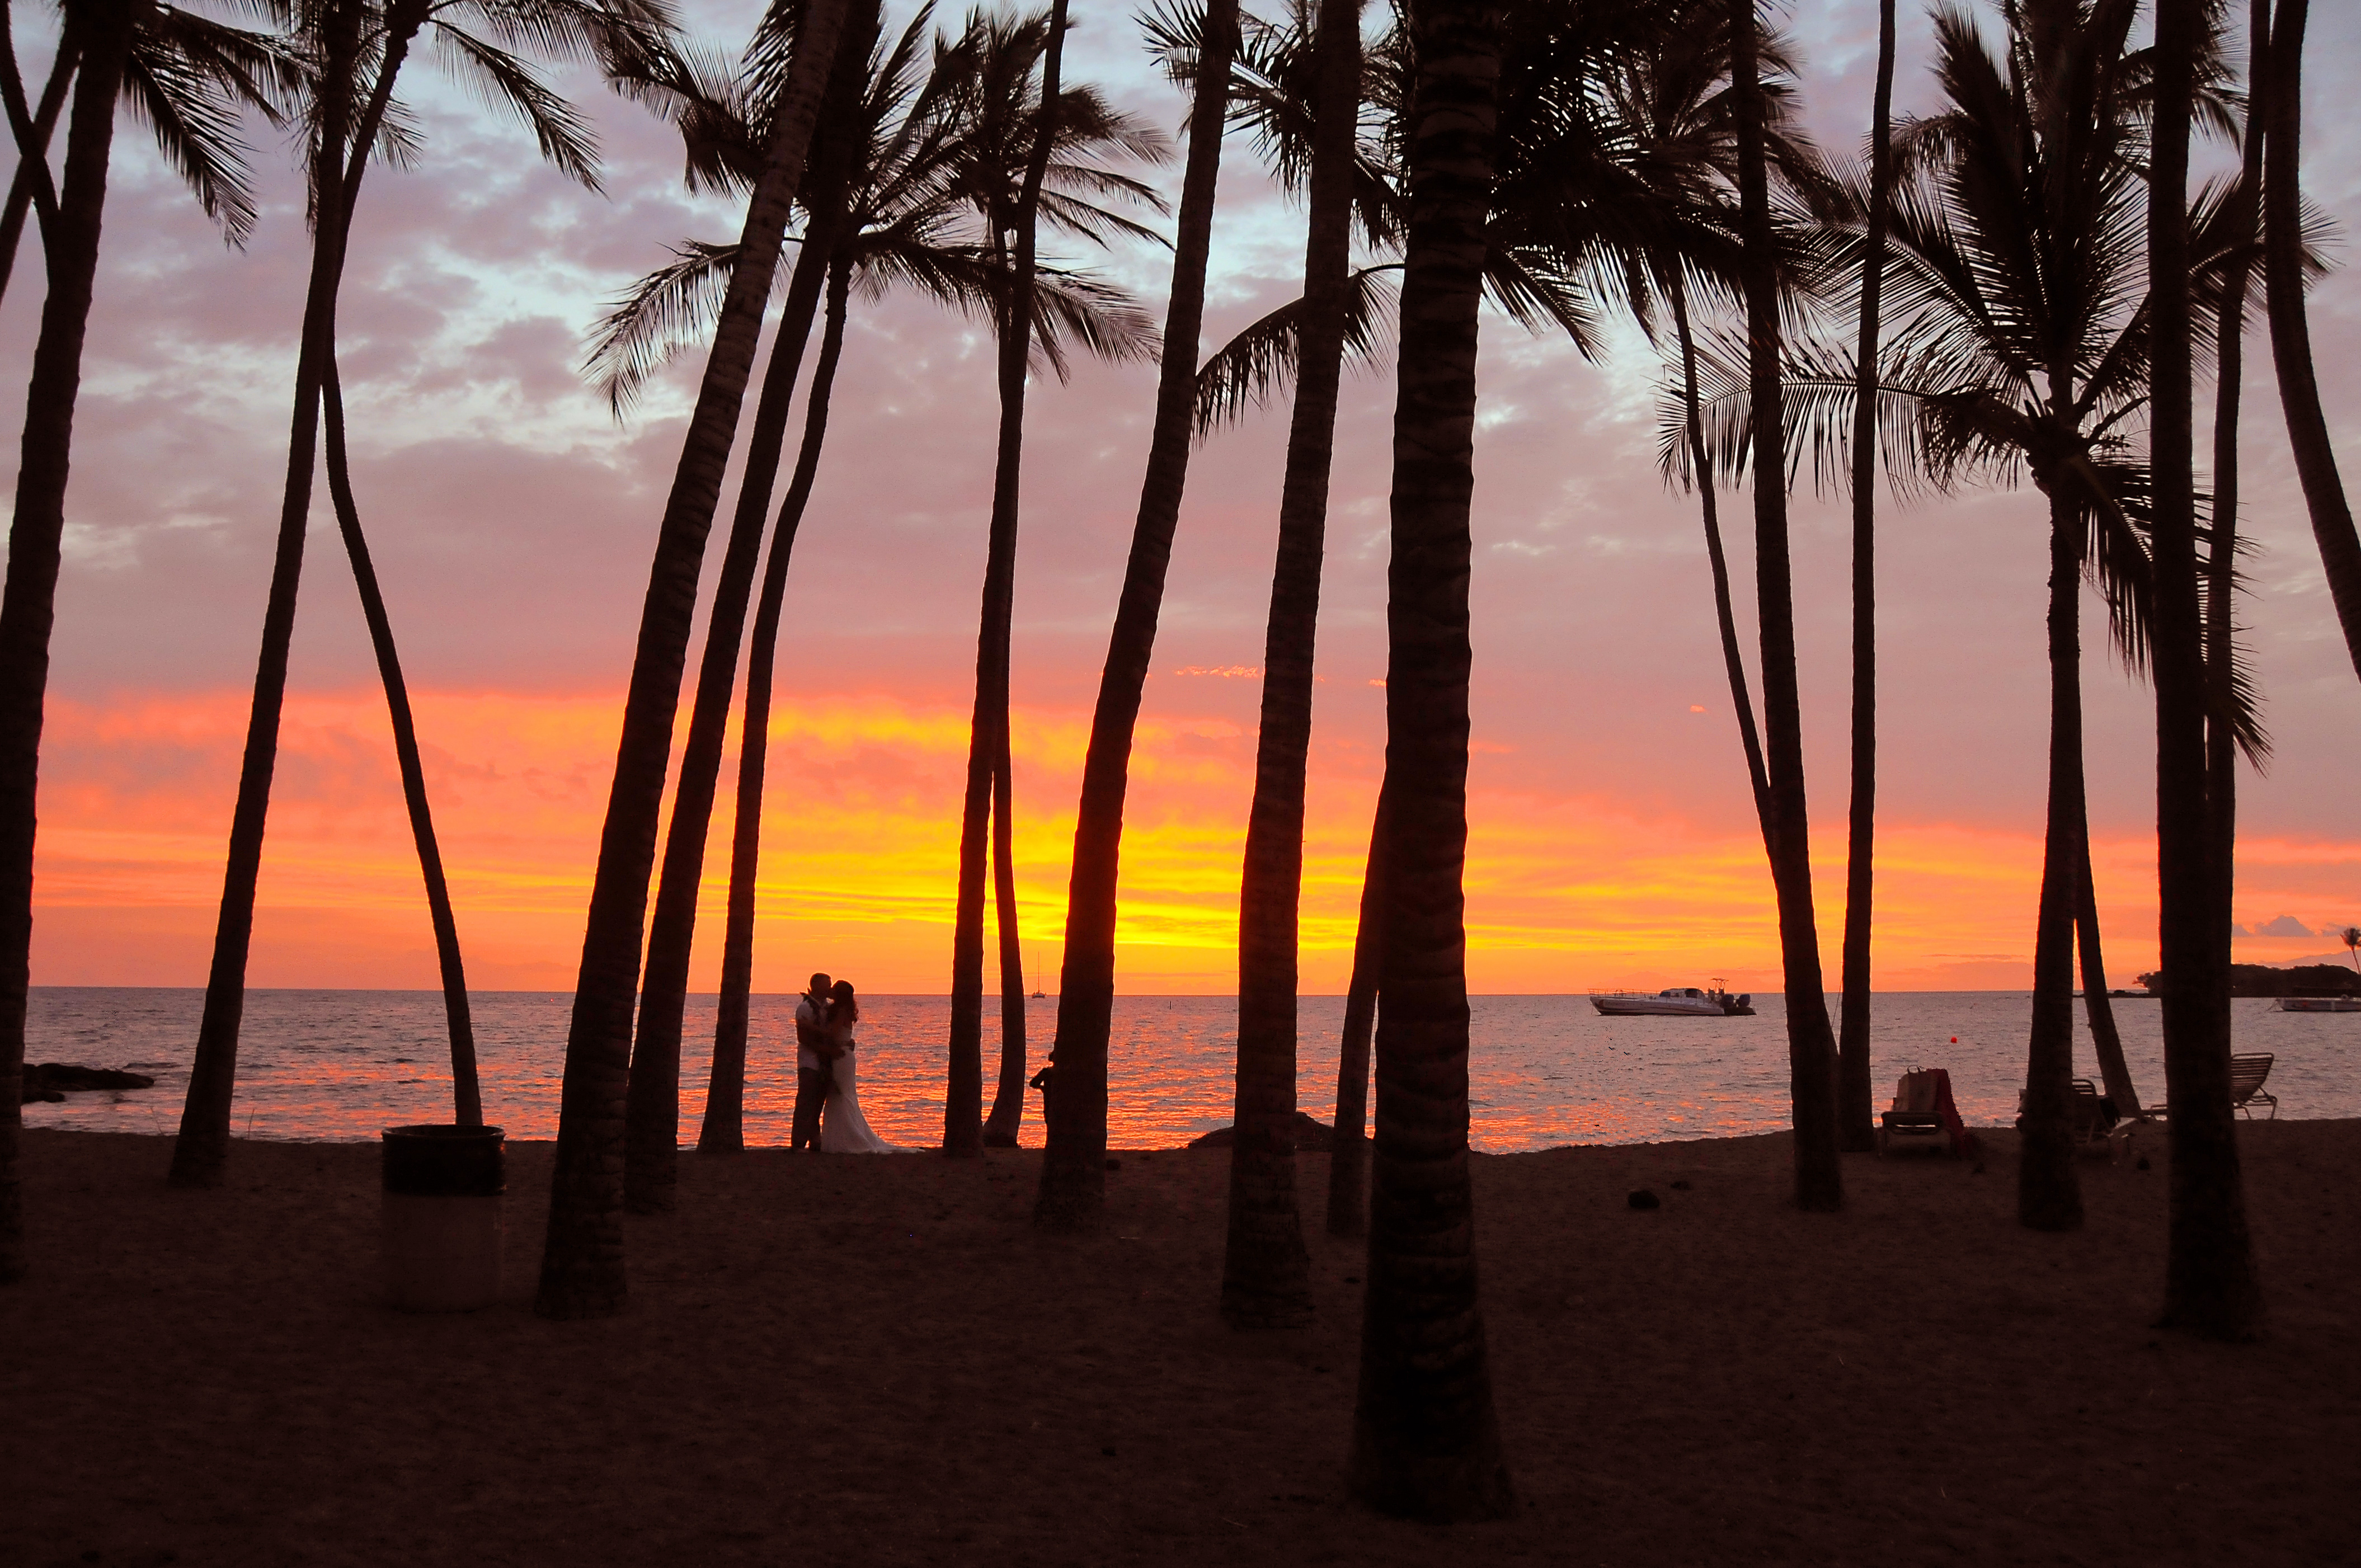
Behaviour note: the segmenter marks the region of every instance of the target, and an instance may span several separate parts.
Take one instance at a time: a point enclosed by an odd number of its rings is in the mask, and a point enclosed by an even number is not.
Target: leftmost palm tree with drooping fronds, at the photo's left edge
[[[231,241],[253,222],[236,104],[276,113],[281,80],[267,40],[137,5],[90,2],[68,12],[78,40],[73,118],[64,179],[52,182],[47,137],[26,111],[17,54],[0,12],[0,97],[7,102],[21,172],[40,213],[47,295],[26,390],[17,510],[0,593],[0,1282],[26,1273],[21,1141],[24,1013],[33,963],[33,838],[40,782],[40,727],[50,685],[50,628],[66,531],[73,409],[83,383],[83,333],[99,269],[99,222],[113,156],[116,109],[153,92],[142,109],[168,158],[189,177],[205,213]],[[210,43],[191,47],[208,33]],[[137,61],[137,64],[135,64]],[[243,64],[236,64],[243,61]]]

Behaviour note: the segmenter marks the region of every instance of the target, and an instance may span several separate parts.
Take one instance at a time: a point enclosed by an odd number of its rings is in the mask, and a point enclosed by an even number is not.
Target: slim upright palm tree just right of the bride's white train
[[[959,904],[951,928],[951,1037],[942,1100],[942,1152],[956,1157],[973,1157],[985,1148],[985,857],[994,775],[1008,732],[1018,479],[1025,453],[1025,364],[1034,338],[1039,217],[1046,210],[1074,205],[1074,198],[1046,189],[1046,177],[1058,139],[1070,135],[1065,130],[1067,116],[1084,106],[1093,106],[1107,128],[1107,139],[1133,156],[1162,158],[1166,153],[1162,135],[1107,109],[1096,92],[1060,87],[1065,28],[1065,0],[1053,0],[1048,14],[1039,19],[977,17],[970,24],[982,68],[977,73],[977,118],[966,189],[994,248],[1008,257],[1008,264],[996,366],[1001,427],[992,479],[992,529],[985,545],[982,619],[975,638],[975,711],[968,727],[968,779],[959,822]],[[1039,92],[1032,87],[1034,61],[1041,66]],[[1147,187],[1107,170],[1098,172],[1096,187],[1155,201]],[[1098,222],[1103,231],[1145,234],[1138,224],[1105,213]],[[1051,1100],[1055,1098],[1058,1091],[1051,1089]]]

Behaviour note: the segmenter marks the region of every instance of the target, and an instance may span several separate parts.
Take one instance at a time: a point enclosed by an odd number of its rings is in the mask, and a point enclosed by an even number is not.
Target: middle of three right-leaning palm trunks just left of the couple
[[[855,0],[836,47],[829,97],[822,104],[831,128],[848,125],[859,109],[874,35],[876,2]],[[630,1086],[623,1103],[623,1207],[633,1214],[668,1211],[680,1183],[680,1025],[689,1004],[689,961],[696,949],[696,893],[706,876],[706,836],[713,827],[713,793],[720,784],[722,744],[730,734],[730,699],[737,694],[746,602],[753,597],[753,576],[763,557],[763,522],[770,517],[770,494],[779,479],[779,456],[786,449],[796,373],[803,366],[803,345],[812,333],[819,293],[829,279],[829,253],[845,227],[852,139],[852,135],[829,135],[805,182],[810,187],[805,210],[812,213],[812,220],[786,286],[786,307],[772,340],[770,368],[763,373],[763,392],[756,397],[737,515],[730,520],[730,543],[722,548],[722,569],[713,586],[713,612],[706,616],[706,652],[696,666],[689,737],[680,749],[680,784],[673,789],[673,819],[663,838],[656,909],[647,926],[640,1034],[630,1051]]]

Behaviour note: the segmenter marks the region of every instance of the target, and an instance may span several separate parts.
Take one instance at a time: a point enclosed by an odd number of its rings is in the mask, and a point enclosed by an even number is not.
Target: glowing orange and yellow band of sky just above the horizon
[[[201,985],[220,897],[222,834],[243,692],[144,699],[50,718],[35,982]],[[567,989],[581,942],[616,701],[442,694],[418,699],[470,980]],[[800,706],[777,723],[765,815],[758,987],[824,966],[881,992],[942,992],[949,975],[956,789],[966,713],[890,697]],[[1020,711],[1018,862],[1034,966],[1053,966],[1065,855],[1086,739],[1081,713]],[[1235,886],[1251,756],[1221,718],[1150,720],[1124,857],[1121,985],[1223,992],[1235,978]],[[734,751],[734,741],[732,741]],[[1341,989],[1374,791],[1315,758],[1306,860],[1306,989]],[[1476,758],[1469,978],[1483,992],[1778,982],[1761,848],[1605,798],[1485,789]],[[1825,824],[1823,824],[1825,827]],[[696,982],[713,985],[727,824],[715,824]],[[1818,845],[1834,978],[1842,834]],[[2241,909],[2314,928],[2354,886],[2361,843],[2243,845]],[[1879,966],[1889,989],[2028,985],[2040,843],[1941,822],[1882,838]],[[2118,982],[2153,963],[2153,850],[2099,845]],[[2257,940],[2285,961],[2335,942]],[[1053,980],[1053,975],[1051,975]],[[295,694],[262,871],[255,985],[434,982],[382,697]]]

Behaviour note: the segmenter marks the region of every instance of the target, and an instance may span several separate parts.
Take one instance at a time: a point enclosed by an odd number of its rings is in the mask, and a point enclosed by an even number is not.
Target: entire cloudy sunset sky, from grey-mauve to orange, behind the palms
[[[1929,106],[1905,5],[1898,106]],[[734,50],[756,5],[687,12]],[[890,26],[909,7],[890,7]],[[951,12],[944,12],[954,21]],[[1157,125],[1126,7],[1074,0],[1067,68]],[[1851,151],[1875,7],[1792,12],[1811,123]],[[2316,7],[2307,182],[2361,215],[2361,9]],[[45,47],[28,50],[28,71]],[[416,68],[425,153],[373,170],[342,302],[364,520],[418,699],[427,777],[486,989],[569,989],[656,515],[701,357],[628,425],[576,375],[588,324],[682,236],[737,213],[680,189],[678,139],[583,73],[607,194]],[[307,236],[288,149],[257,137],[264,220],[227,250],[125,123],[92,314],[59,590],[33,980],[201,985],[220,900],[286,463]],[[1166,189],[1178,165],[1150,170]],[[1209,345],[1301,279],[1303,217],[1225,149]],[[2342,260],[2349,260],[2344,255]],[[1162,316],[1169,255],[1103,264]],[[21,375],[40,305],[28,243],[0,309]],[[2361,411],[2361,279],[2311,302],[2330,423]],[[1469,982],[1478,992],[1775,985],[1771,883],[1745,789],[1695,501],[1655,468],[1657,359],[1617,326],[1603,364],[1487,314],[1476,444],[1476,756]],[[2276,760],[2241,793],[2238,959],[2335,956],[2361,921],[2356,682],[2250,347],[2245,621]],[[1018,562],[1015,777],[1027,959],[1055,985],[1091,699],[1138,501],[1152,366],[1036,383]],[[1306,989],[1343,987],[1384,756],[1391,364],[1350,378],[1329,508],[1303,902]],[[2203,399],[2210,406],[2210,394]],[[779,656],[758,989],[810,968],[876,992],[949,987],[959,784],[992,484],[992,347],[909,298],[857,302]],[[2203,437],[2200,437],[2203,439]],[[2200,446],[2203,449],[2203,446]],[[1119,985],[1235,982],[1263,612],[1284,456],[1265,411],[1199,449],[1133,763]],[[2361,444],[2344,444],[2361,477]],[[734,475],[725,496],[734,496]],[[727,520],[727,503],[725,503]],[[1738,567],[1750,564],[1742,527]],[[2030,491],[1882,515],[1877,982],[2030,985],[2047,687],[2045,512]],[[1797,512],[1820,930],[1834,980],[1846,793],[1849,527]],[[708,555],[718,562],[715,541]],[[1752,581],[1752,574],[1747,574]],[[2099,626],[2097,605],[2085,621]],[[1745,612],[1752,638],[1752,614]],[[701,635],[701,633],[699,633]],[[2089,638],[2099,907],[2118,985],[2156,961],[2149,692]],[[1752,647],[1752,645],[1750,645]],[[734,741],[732,741],[734,756]],[[727,812],[727,805],[722,808]],[[727,822],[713,831],[696,982],[718,971]],[[2319,935],[2302,935],[2319,933]],[[255,985],[434,982],[385,701],[321,491],[262,867]]]

